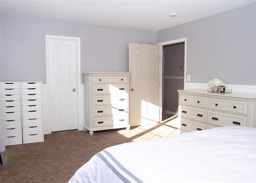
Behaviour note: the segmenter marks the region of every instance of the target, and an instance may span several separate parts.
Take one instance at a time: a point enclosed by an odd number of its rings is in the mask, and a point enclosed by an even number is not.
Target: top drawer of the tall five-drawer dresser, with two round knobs
[[[93,76],[93,84],[128,83],[128,76]]]

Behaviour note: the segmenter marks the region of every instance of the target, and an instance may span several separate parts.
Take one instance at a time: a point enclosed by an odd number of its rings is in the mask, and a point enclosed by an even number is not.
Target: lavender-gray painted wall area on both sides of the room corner
[[[46,83],[46,34],[81,38],[81,74],[128,72],[128,42],[187,38],[191,82],[256,85],[256,3],[158,32],[1,16],[0,81]]]

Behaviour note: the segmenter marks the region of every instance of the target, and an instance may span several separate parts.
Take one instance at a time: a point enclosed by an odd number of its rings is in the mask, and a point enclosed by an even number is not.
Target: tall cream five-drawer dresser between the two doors
[[[129,73],[84,74],[84,128],[94,131],[129,125]]]

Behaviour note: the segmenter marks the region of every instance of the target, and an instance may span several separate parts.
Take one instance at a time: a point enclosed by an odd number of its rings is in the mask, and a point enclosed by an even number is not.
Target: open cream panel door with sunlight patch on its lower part
[[[159,122],[159,46],[129,43],[130,125]]]

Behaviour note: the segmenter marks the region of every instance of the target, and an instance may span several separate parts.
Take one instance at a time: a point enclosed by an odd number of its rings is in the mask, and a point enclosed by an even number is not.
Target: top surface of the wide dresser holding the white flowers
[[[204,95],[206,97],[226,97],[226,98],[243,98],[243,99],[252,99],[256,100],[256,94],[248,94],[248,93],[217,93],[217,92],[208,92],[208,90],[178,90],[179,93],[186,94],[196,94],[196,95]]]

